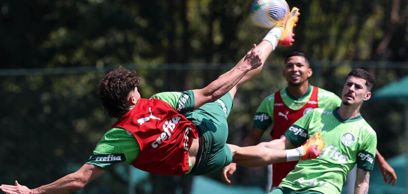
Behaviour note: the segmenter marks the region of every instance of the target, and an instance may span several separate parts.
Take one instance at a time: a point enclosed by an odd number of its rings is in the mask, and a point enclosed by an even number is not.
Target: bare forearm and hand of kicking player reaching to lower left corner
[[[35,189],[20,185],[17,180],[15,185],[1,185],[0,189],[6,194],[69,194],[84,188],[104,172],[99,166],[84,164],[78,171]]]

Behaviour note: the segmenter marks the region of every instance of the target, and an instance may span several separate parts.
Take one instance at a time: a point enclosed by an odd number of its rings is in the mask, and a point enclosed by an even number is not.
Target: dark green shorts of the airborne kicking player
[[[191,175],[204,175],[215,172],[232,162],[232,153],[226,145],[228,137],[227,117],[231,112],[233,99],[229,93],[185,114],[188,120],[197,125],[204,138],[201,161]]]

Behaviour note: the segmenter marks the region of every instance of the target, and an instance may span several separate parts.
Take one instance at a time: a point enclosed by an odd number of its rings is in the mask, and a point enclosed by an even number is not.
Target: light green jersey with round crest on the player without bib
[[[325,142],[316,159],[299,161],[279,185],[293,190],[340,194],[347,173],[357,168],[373,170],[377,137],[361,115],[343,120],[338,109],[314,109],[297,120],[285,135],[294,146],[320,132]]]

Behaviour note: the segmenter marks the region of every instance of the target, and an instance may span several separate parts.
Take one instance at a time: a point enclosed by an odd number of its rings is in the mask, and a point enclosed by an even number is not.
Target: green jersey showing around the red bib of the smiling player
[[[309,100],[312,95],[313,87],[309,85],[307,92],[300,98],[292,96],[288,92],[288,88],[284,88],[280,91],[283,103],[292,110],[301,109]],[[266,130],[273,123],[273,107],[275,103],[275,94],[266,97],[256,110],[253,126]],[[341,104],[340,97],[334,93],[318,88],[317,103],[319,108],[334,109]]]

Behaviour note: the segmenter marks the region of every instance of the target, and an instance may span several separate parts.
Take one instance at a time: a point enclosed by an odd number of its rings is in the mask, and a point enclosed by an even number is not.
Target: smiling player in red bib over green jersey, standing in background
[[[285,59],[283,76],[288,86],[266,97],[256,110],[253,128],[240,146],[254,146],[273,123],[272,139],[279,139],[300,117],[314,108],[336,108],[341,99],[332,92],[309,84],[313,71],[309,59],[302,52],[292,52]],[[272,187],[277,187],[286,175],[293,170],[297,161],[279,162],[272,165]],[[228,179],[236,170],[236,164],[223,168],[222,179]],[[271,185],[269,185],[271,186]]]

